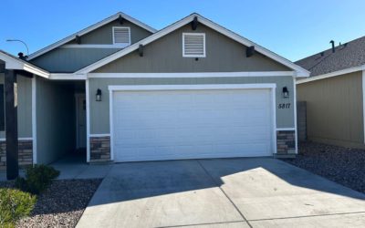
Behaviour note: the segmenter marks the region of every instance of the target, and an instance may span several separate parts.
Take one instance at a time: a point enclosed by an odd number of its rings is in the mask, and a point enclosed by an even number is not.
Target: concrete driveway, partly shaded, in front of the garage
[[[364,227],[365,195],[269,158],[113,165],[78,227]]]

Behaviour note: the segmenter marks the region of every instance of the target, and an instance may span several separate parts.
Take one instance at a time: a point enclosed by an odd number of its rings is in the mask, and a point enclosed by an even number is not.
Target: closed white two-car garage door
[[[272,155],[270,89],[112,94],[114,161]]]

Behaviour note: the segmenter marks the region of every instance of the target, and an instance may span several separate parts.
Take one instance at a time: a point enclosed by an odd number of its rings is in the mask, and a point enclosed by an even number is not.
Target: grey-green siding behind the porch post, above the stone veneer
[[[4,84],[4,74],[0,74],[0,83]],[[17,129],[19,138],[32,137],[32,78],[17,77]],[[0,131],[5,138],[5,131]]]

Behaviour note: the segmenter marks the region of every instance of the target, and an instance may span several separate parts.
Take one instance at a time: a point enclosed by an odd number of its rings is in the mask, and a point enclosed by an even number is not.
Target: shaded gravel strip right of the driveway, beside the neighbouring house
[[[296,159],[283,161],[365,193],[365,150],[305,142]]]

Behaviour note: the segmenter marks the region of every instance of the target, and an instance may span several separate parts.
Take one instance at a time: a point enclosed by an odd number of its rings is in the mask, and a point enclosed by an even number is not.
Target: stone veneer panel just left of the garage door
[[[90,137],[90,162],[110,161],[110,137]]]

